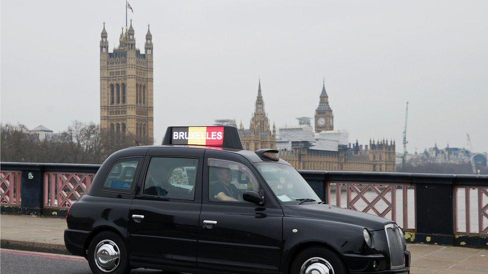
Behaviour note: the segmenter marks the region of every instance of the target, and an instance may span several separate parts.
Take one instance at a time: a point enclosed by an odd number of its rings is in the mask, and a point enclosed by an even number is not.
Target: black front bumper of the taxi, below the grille
[[[373,255],[356,255],[356,254],[341,254],[349,273],[396,273],[403,274],[410,272],[410,252],[405,251],[405,267],[395,270],[387,270],[389,268],[389,260],[381,254]],[[373,263],[376,261],[376,269]]]

